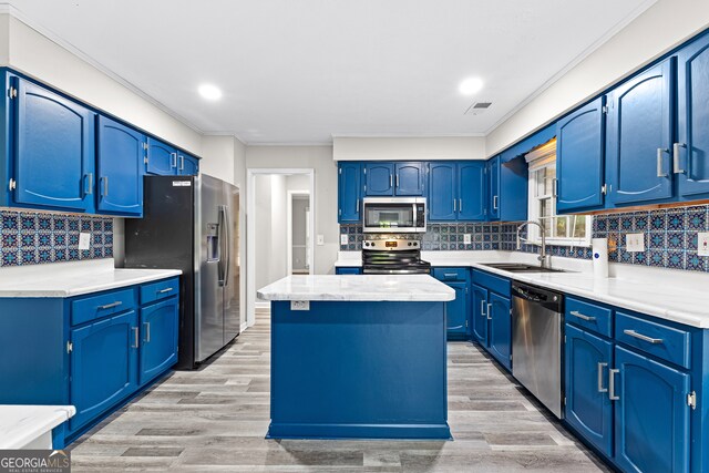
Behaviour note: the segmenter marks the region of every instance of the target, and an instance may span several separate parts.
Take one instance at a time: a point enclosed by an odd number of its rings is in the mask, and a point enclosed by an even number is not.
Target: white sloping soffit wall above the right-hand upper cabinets
[[[486,136],[492,156],[709,24],[707,0],[658,0]]]

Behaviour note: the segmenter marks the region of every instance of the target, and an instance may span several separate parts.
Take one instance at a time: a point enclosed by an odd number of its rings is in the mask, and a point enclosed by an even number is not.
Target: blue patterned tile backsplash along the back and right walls
[[[428,232],[409,235],[421,240],[424,251],[485,250],[516,248],[516,224],[429,224]],[[709,232],[709,206],[675,207],[640,210],[625,214],[597,215],[593,220],[593,237],[608,238],[608,258],[614,263],[643,265],[695,271],[709,271],[709,257],[697,255],[697,234]],[[645,235],[645,251],[626,250],[626,234]],[[341,250],[360,250],[361,225],[340,225],[340,234],[348,235],[348,244]],[[464,244],[464,235],[472,235],[472,243]],[[372,234],[376,235],[376,234]],[[523,236],[524,233],[523,233]],[[367,238],[370,238],[368,235]],[[522,245],[522,251],[538,253],[538,246]],[[547,253],[567,258],[590,259],[590,248],[547,245]]]

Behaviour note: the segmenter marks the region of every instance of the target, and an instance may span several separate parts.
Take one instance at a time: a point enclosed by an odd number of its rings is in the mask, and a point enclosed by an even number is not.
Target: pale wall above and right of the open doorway
[[[332,274],[339,248],[337,223],[337,164],[332,146],[247,146],[247,168],[315,169],[315,233],[325,245],[315,246],[314,274]],[[314,236],[315,237],[315,236]]]

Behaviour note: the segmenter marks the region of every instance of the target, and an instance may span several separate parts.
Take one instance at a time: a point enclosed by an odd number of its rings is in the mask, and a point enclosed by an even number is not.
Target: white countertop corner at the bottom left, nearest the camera
[[[73,405],[0,405],[0,449],[21,449],[75,413]]]

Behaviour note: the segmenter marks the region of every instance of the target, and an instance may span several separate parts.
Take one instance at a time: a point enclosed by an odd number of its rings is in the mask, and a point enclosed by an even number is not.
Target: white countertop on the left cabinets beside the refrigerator
[[[72,297],[179,276],[178,269],[114,268],[113,259],[0,269],[0,297]]]

